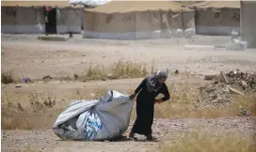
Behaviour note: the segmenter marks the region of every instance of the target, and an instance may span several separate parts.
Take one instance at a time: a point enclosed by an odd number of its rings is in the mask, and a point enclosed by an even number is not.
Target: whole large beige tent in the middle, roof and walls
[[[83,26],[83,38],[171,38],[195,31],[194,10],[169,1],[111,1],[86,8]]]

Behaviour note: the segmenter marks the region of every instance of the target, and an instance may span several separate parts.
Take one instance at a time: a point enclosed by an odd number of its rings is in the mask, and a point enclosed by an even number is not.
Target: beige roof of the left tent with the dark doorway
[[[1,7],[58,7],[58,8],[67,8],[73,7],[69,4],[69,1],[59,0],[59,1],[1,1]],[[82,8],[83,6],[75,6],[75,8]]]

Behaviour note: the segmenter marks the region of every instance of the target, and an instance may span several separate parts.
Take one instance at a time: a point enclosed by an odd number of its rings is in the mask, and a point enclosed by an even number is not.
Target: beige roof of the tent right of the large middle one
[[[240,1],[204,1],[186,6],[196,8],[240,8]]]

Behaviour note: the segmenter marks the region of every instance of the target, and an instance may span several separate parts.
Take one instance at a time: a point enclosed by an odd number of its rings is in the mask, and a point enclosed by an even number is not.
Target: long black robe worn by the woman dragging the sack
[[[144,79],[135,91],[138,93],[136,98],[136,122],[132,131],[142,135],[152,134],[155,97],[161,93],[165,96],[163,101],[169,99],[168,87],[165,83],[157,91],[149,92],[146,84],[147,79],[149,78]]]

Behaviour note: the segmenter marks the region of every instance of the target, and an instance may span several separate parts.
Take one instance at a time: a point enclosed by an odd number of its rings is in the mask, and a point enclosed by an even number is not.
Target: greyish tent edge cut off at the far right
[[[256,48],[255,1],[241,1],[241,36],[248,48]]]

